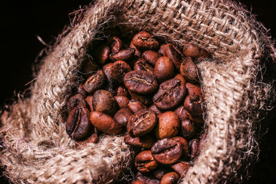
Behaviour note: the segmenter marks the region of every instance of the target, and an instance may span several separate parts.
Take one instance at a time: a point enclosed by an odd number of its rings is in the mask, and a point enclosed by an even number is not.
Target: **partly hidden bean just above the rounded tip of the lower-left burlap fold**
[[[148,136],[148,135],[134,137],[134,136],[130,136],[130,134],[127,134],[124,137],[124,141],[128,145],[132,145],[134,147],[144,147],[147,149],[150,149],[153,143],[155,143],[155,139],[153,139],[151,136]]]

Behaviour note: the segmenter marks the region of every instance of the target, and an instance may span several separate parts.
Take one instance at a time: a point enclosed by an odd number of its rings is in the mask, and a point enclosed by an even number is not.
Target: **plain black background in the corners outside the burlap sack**
[[[275,5],[271,0],[243,0],[257,19],[262,21],[270,33],[276,37]],[[22,92],[32,80],[32,64],[37,54],[44,48],[37,35],[46,43],[52,43],[69,23],[68,14],[77,10],[79,5],[87,5],[89,0],[79,1],[4,1],[1,5],[1,61],[0,61],[0,106],[10,103],[14,94]],[[275,132],[269,130],[264,141],[275,139]],[[274,134],[274,135],[273,135]],[[275,141],[271,147],[276,147]],[[261,147],[262,148],[262,147]],[[264,149],[261,161],[253,171],[253,178],[246,183],[276,183],[275,151]],[[267,170],[267,171],[266,171]],[[259,176],[259,173],[262,176]],[[256,174],[255,174],[256,173]],[[1,177],[0,183],[7,183]]]

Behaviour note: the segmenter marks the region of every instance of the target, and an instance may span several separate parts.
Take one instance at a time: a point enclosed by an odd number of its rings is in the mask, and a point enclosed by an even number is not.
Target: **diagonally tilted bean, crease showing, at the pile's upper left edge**
[[[83,84],[83,89],[86,92],[95,92],[103,87],[106,82],[106,74],[104,74],[103,70],[98,70],[95,74],[92,74],[86,82]]]

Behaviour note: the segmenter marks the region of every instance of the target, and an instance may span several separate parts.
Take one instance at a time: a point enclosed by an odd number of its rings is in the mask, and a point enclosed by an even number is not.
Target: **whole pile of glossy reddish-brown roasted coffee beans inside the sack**
[[[124,134],[135,161],[130,183],[177,183],[204,146],[204,105],[195,61],[206,50],[181,50],[141,31],[110,36],[83,62],[83,83],[68,100],[66,132],[77,147],[101,132]]]

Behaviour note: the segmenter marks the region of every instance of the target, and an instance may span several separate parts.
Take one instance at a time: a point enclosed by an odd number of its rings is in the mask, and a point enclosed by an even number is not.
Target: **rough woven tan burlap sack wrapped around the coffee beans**
[[[265,28],[228,0],[105,0],[43,59],[31,97],[2,117],[1,165],[14,183],[111,183],[131,172],[132,153],[120,136],[76,150],[63,111],[88,45],[112,22],[161,39],[200,45],[213,60],[197,63],[206,101],[206,146],[181,183],[239,182],[257,159],[257,127],[273,90],[262,69],[275,61]],[[245,172],[244,172],[245,171]],[[125,176],[125,178],[128,176]]]

